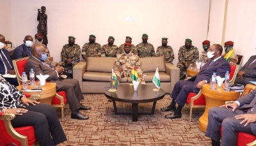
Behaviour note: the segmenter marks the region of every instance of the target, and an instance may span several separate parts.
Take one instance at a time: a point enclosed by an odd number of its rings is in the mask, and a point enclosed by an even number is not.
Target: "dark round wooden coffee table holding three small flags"
[[[139,85],[138,91],[134,91],[133,86],[128,84],[118,85],[116,92],[105,90],[105,96],[113,100],[113,106],[116,115],[132,114],[132,121],[138,120],[138,103],[154,102],[150,113],[139,113],[153,115],[156,108],[156,101],[164,98],[164,90],[153,91],[156,88],[153,85]],[[132,103],[132,112],[117,112],[116,101]]]

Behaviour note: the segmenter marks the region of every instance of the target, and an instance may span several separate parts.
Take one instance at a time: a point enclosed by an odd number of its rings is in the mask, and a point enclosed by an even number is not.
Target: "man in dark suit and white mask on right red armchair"
[[[179,80],[174,85],[171,93],[172,103],[165,108],[161,108],[163,112],[173,112],[173,114],[165,115],[166,119],[181,118],[181,110],[186,103],[188,93],[198,93],[202,89],[202,85],[209,83],[212,73],[216,73],[221,78],[225,77],[225,73],[230,70],[230,65],[221,57],[222,50],[221,45],[211,45],[207,52],[207,57],[210,60],[202,67],[199,73],[186,80]],[[178,104],[177,109],[175,107],[176,103]]]

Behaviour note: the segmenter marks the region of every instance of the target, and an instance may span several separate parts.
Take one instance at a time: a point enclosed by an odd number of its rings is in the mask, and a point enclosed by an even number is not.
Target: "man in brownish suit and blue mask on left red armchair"
[[[28,62],[26,63],[26,73],[29,75],[29,71],[31,68],[35,71],[35,76],[40,75],[49,75],[46,79],[47,82],[56,83],[56,91],[66,91],[68,105],[71,110],[71,118],[72,119],[81,119],[87,120],[88,116],[83,115],[79,112],[79,110],[90,110],[91,108],[88,106],[81,105],[79,101],[84,99],[83,93],[80,89],[79,82],[76,79],[59,79],[59,74],[61,74],[64,69],[61,66],[56,66],[56,68],[52,68],[44,61],[47,59],[47,55],[45,54],[45,48],[36,44],[32,47],[32,55],[29,57]]]

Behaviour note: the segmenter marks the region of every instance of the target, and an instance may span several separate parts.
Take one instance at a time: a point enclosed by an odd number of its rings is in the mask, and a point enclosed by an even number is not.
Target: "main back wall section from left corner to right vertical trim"
[[[35,35],[37,9],[46,6],[48,15],[49,50],[54,60],[60,61],[60,51],[75,36],[76,43],[83,47],[88,36],[95,34],[101,45],[107,43],[108,36],[115,37],[115,44],[124,43],[125,36],[132,37],[132,43],[141,42],[141,35],[148,34],[148,42],[155,49],[161,45],[161,38],[167,37],[168,45],[175,54],[177,64],[179,47],[186,38],[202,52],[202,41],[207,31],[209,1],[205,0],[11,0],[13,41],[19,45],[27,34]],[[127,22],[126,17],[138,18],[137,22]]]

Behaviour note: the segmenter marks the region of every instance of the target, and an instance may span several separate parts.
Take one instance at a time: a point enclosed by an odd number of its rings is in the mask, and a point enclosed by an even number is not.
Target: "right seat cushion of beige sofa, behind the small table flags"
[[[143,73],[144,75],[147,75],[144,77],[145,82],[152,82],[152,79],[155,75],[154,73]],[[171,82],[171,77],[167,73],[159,72],[160,82]],[[128,82],[131,83],[131,78],[128,78]]]

